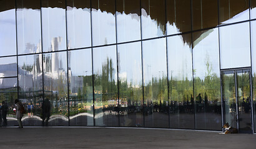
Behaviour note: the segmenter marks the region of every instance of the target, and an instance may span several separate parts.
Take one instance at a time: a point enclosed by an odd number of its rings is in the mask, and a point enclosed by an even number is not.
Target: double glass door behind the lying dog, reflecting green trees
[[[250,70],[222,71],[224,124],[229,122],[240,133],[252,133]]]

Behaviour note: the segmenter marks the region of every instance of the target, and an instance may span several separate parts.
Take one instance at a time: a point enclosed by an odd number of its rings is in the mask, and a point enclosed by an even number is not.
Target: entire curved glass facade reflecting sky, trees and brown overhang
[[[255,0],[0,0],[7,125],[17,125],[20,99],[26,126],[222,130],[227,121],[255,132],[255,7]]]

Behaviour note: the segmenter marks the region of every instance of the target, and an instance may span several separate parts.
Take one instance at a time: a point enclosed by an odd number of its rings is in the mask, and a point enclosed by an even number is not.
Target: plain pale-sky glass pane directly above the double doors
[[[249,22],[220,27],[220,66],[239,68],[250,66]]]

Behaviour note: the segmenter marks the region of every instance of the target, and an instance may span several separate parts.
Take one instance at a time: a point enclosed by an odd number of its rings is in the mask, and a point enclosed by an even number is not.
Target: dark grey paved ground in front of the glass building
[[[0,148],[256,148],[256,135],[109,127],[1,127]]]

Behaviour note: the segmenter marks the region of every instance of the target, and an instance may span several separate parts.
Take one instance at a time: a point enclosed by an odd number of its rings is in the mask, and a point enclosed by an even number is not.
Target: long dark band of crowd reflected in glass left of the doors
[[[164,114],[177,114],[177,113],[188,113],[193,114],[194,112],[200,113],[200,112],[208,112],[208,113],[215,113],[215,114],[221,114],[221,104],[219,100],[209,100],[207,97],[207,94],[204,94],[204,97],[202,97],[201,94],[198,94],[198,96],[194,97],[192,94],[187,96],[184,101],[170,101],[169,103],[167,101],[159,101],[159,102],[153,102],[152,100],[146,100],[145,104],[142,104],[140,102],[131,102],[130,100],[127,101],[127,106],[113,106],[113,107],[103,107],[100,109],[97,109],[97,112],[106,112],[106,111],[112,111],[112,114],[117,114],[119,111],[119,114],[129,114],[129,113],[144,113],[145,115],[153,114],[154,112],[161,112]]]

